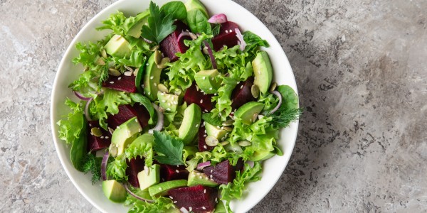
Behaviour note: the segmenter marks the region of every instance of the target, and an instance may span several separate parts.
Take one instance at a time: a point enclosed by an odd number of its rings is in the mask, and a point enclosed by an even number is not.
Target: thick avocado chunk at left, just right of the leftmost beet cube
[[[137,133],[140,131],[142,131],[142,127],[136,116],[117,126],[111,136],[111,143],[117,146],[117,155],[125,152],[125,148],[137,138]]]

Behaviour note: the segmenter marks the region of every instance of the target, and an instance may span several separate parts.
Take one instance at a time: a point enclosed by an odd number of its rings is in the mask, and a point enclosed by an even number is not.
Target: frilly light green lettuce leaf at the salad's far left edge
[[[65,104],[72,110],[65,119],[61,119],[56,124],[59,126],[59,138],[67,144],[73,144],[80,138],[80,132],[85,131],[83,105],[81,102],[75,103],[70,99],[65,99]]]

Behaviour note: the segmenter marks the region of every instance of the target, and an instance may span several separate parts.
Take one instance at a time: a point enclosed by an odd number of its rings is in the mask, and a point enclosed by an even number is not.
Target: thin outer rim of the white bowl
[[[56,153],[58,155],[60,163],[61,163],[63,169],[65,170],[65,173],[67,174],[68,178],[71,180],[71,182],[73,182],[73,185],[77,188],[78,192],[80,192],[80,194],[83,195],[83,197],[85,197],[85,199],[88,200],[88,202],[90,202],[90,204],[93,204],[93,206],[95,206],[101,212],[106,212],[106,211],[105,211],[105,209],[103,207],[101,207],[100,205],[98,205],[97,202],[95,202],[91,197],[89,197],[85,193],[85,190],[82,187],[80,187],[80,185],[78,185],[77,180],[75,180],[75,178],[73,177],[73,175],[71,175],[70,170],[68,170],[68,168],[65,166],[65,158],[64,158],[64,156],[60,154],[59,144],[63,143],[63,141],[60,141],[60,139],[58,138],[58,136],[57,136],[58,132],[56,131],[56,128],[55,128],[56,121],[54,120],[54,118],[55,118],[56,110],[55,110],[55,106],[54,106],[54,104],[55,104],[54,98],[56,97],[56,93],[58,92],[56,90],[56,88],[58,87],[58,78],[59,78],[60,75],[63,74],[63,72],[65,72],[65,71],[63,71],[64,70],[63,67],[65,66],[65,63],[67,63],[67,60],[66,60],[65,56],[66,55],[70,55],[70,52],[73,50],[73,48],[75,48],[75,43],[78,42],[78,38],[81,37],[81,35],[83,34],[83,32],[86,31],[87,28],[90,28],[90,26],[92,25],[92,23],[94,23],[95,20],[98,17],[102,16],[106,11],[108,11],[108,10],[110,10],[110,9],[112,9],[112,8],[120,5],[120,4],[122,4],[122,2],[124,2],[124,1],[128,1],[128,0],[115,1],[114,3],[106,6],[104,9],[102,9],[101,11],[99,11],[98,13],[96,13],[95,16],[93,16],[92,18],[90,18],[90,20],[87,23],[85,23],[85,25],[82,28],[80,28],[80,30],[74,36],[73,40],[71,40],[70,44],[68,45],[68,48],[66,48],[65,52],[62,55],[62,58],[60,60],[60,64],[58,65],[58,68],[56,70],[57,72],[56,72],[56,76],[55,76],[55,79],[54,79],[54,82],[53,82],[53,87],[52,87],[53,89],[52,89],[52,92],[51,92],[51,104],[50,104],[50,108],[51,108],[50,109],[51,130],[52,130],[53,142],[54,142],[54,145],[55,145],[55,148],[56,148]],[[155,0],[153,0],[153,1],[155,1]],[[183,0],[179,0],[179,1],[183,1]],[[240,4],[237,4],[234,1],[231,1],[231,0],[222,0],[222,1],[228,1],[229,4],[234,4],[234,6],[238,7],[239,9],[241,9],[243,11],[246,11],[247,13],[251,13],[251,11],[248,11],[246,8],[244,8]],[[268,29],[268,27],[265,26],[265,24],[262,21],[260,21],[259,18],[256,17],[253,13],[251,13],[251,15],[256,19],[256,21],[258,21],[261,24],[261,26],[263,26],[263,28],[266,29],[265,32],[268,33],[268,34],[270,34],[274,38],[273,40],[268,40],[268,43],[270,43],[270,46],[278,45],[282,49],[281,54],[283,54],[284,60],[285,60],[285,64],[288,65],[287,68],[290,70],[290,75],[292,75],[292,83],[293,83],[293,85],[291,87],[292,87],[292,89],[295,90],[295,93],[299,97],[299,93],[297,91],[297,84],[296,84],[296,80],[295,80],[295,75],[293,73],[292,67],[290,66],[290,62],[289,62],[288,57],[286,56],[283,48],[281,47],[281,45],[278,42],[277,38],[275,38],[275,35],[270,31],[270,29]],[[62,70],[62,72],[61,72],[61,70]],[[298,102],[299,102],[299,99],[298,99]],[[292,137],[289,136],[289,135],[287,135],[287,137],[290,137],[290,141],[292,141],[292,143],[290,143],[289,146],[288,146],[288,148],[291,150],[290,154],[287,156],[287,158],[283,159],[284,160],[283,161],[283,165],[284,165],[283,166],[283,171],[287,167],[287,165],[289,163],[289,160],[290,160],[290,157],[292,156],[292,151],[295,148],[295,143],[296,143],[296,138],[297,138],[297,132],[298,132],[298,126],[299,126],[299,120],[293,122],[292,123],[292,128],[295,129],[295,132],[292,133]],[[248,210],[250,210],[253,207],[255,207],[256,204],[258,204],[259,202],[261,202],[261,200],[263,200],[264,197],[266,195],[268,195],[268,193],[277,184],[277,182],[280,179],[281,175],[283,175],[283,171],[282,171],[282,173],[280,173],[280,175],[278,175],[277,177],[275,177],[273,180],[270,180],[270,182],[272,184],[268,185],[268,190],[264,190],[264,192],[259,196],[260,199],[258,199],[256,202],[252,202],[252,203],[248,204]]]

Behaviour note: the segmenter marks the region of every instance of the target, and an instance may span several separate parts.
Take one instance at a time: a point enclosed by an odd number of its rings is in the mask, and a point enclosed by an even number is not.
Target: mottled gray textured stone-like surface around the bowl
[[[60,58],[112,1],[0,0],[1,212],[97,212],[51,139]],[[237,1],[278,38],[307,111],[252,212],[427,212],[427,1]]]

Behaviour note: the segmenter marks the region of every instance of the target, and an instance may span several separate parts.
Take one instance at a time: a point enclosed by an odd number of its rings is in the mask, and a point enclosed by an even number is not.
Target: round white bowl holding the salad
[[[167,0],[157,0],[157,4],[162,5]],[[216,1],[203,1],[202,3],[206,6],[209,13],[225,13],[229,21],[238,23],[243,31],[252,31],[265,39],[270,43],[270,48],[265,48],[270,55],[270,60],[273,65],[275,82],[278,84],[287,84],[297,92],[297,85],[295,83],[295,77],[290,67],[288,58],[286,58],[280,43],[275,39],[274,35],[268,30],[267,27],[261,23],[258,18],[242,6],[236,4],[230,0],[216,0]],[[73,182],[78,191],[97,209],[102,212],[127,212],[127,207],[122,204],[116,204],[107,200],[102,193],[100,184],[92,185],[90,182],[90,175],[83,175],[78,170],[75,170],[70,162],[69,152],[70,147],[65,146],[64,141],[58,138],[58,126],[56,122],[67,113],[64,101],[65,97],[74,97],[68,84],[78,77],[80,72],[83,72],[83,67],[75,66],[71,62],[73,58],[78,55],[78,51],[75,49],[75,43],[95,41],[103,38],[106,35],[106,31],[96,31],[95,28],[100,26],[100,22],[105,20],[111,13],[119,10],[125,13],[125,15],[135,16],[137,13],[144,11],[149,6],[149,1],[140,0],[121,0],[108,6],[106,9],[100,11],[95,17],[93,17],[75,36],[74,40],[70,43],[70,46],[65,51],[63,59],[58,67],[55,82],[53,84],[53,92],[51,99],[51,126],[53,133],[53,141],[55,142],[56,151],[60,163],[62,163],[65,172],[67,173],[70,180]],[[258,182],[253,182],[248,185],[245,196],[241,200],[235,200],[231,202],[231,208],[234,212],[248,212],[255,204],[258,204],[265,195],[270,192],[271,188],[282,175],[288,164],[292,149],[295,145],[295,139],[297,137],[298,123],[291,124],[287,129],[280,131],[280,140],[278,144],[283,150],[283,156],[275,156],[270,158],[263,163],[263,178]]]

